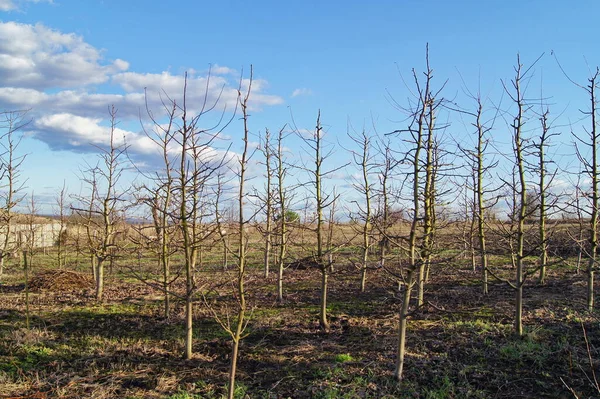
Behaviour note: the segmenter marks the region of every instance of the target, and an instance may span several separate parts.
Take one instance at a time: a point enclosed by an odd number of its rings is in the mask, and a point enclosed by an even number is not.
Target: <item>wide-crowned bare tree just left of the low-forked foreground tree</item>
[[[164,114],[160,117],[154,115],[147,102],[152,128],[146,130],[146,136],[154,142],[162,165],[152,174],[145,174],[150,183],[142,195],[152,213],[158,238],[165,315],[169,314],[169,296],[184,302],[185,359],[193,356],[194,304],[200,289],[197,271],[202,265],[203,246],[219,227],[214,220],[215,192],[220,191],[228,150],[217,151],[216,144],[237,112],[237,102],[230,116],[226,116],[226,106],[219,110],[221,95],[209,95],[210,73],[199,104],[189,104],[188,83],[185,73],[179,96],[161,96]],[[170,257],[175,252],[182,255],[183,293],[169,288]]]

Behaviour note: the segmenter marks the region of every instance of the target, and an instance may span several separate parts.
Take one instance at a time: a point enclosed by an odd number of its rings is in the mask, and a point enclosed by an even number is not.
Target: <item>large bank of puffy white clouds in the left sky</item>
[[[0,0],[0,7],[15,4]],[[146,103],[157,115],[164,111],[166,96],[181,104],[184,76],[128,69],[125,60],[106,61],[104,51],[81,36],[41,24],[0,22],[0,109],[31,109],[32,133],[52,149],[86,152],[95,151],[93,146],[106,146],[111,105],[118,109],[123,125],[131,127],[139,126]],[[208,70],[204,74],[191,70],[188,111],[198,112],[203,104],[216,105],[209,117],[218,120],[223,110],[235,109],[240,85],[235,74],[235,70],[216,64],[210,76]],[[249,81],[241,83],[243,92]],[[96,91],[100,84],[104,84],[102,93]],[[283,103],[281,97],[266,93],[267,86],[265,80],[252,82],[251,110]],[[212,122],[202,123],[212,126]],[[142,133],[119,130],[118,136],[125,137],[134,156],[154,151],[151,140]]]

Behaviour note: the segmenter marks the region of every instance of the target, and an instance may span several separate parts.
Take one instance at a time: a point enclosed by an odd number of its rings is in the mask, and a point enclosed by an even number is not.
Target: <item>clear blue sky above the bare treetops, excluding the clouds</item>
[[[278,130],[291,115],[310,129],[320,109],[327,139],[339,148],[348,122],[360,129],[374,120],[379,133],[399,128],[388,93],[399,102],[408,96],[401,76],[423,70],[426,43],[436,81],[448,80],[444,96],[465,106],[460,76],[497,99],[517,52],[525,64],[545,53],[532,90],[543,79],[548,102],[562,113],[557,124],[566,125],[580,117],[586,98],[551,52],[585,82],[586,62],[600,65],[599,12],[594,0],[0,0],[0,110],[31,109],[23,175],[28,191],[46,202],[63,181],[71,192],[80,189],[77,171],[93,159],[87,144],[105,142],[111,103],[133,150],[143,153],[136,115],[143,87],[176,90],[185,71],[201,82],[210,65],[228,90],[254,66],[254,134]],[[460,122],[451,130],[459,140],[466,135]],[[239,150],[239,125],[227,133]],[[501,126],[494,135],[509,139]],[[568,158],[572,150],[556,152]],[[331,164],[348,158],[336,150]]]

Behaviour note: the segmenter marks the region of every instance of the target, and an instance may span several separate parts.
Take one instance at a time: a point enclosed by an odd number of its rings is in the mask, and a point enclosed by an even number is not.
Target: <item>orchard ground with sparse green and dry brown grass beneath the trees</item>
[[[342,236],[350,235],[346,229]],[[320,273],[286,269],[285,301],[278,303],[275,273],[264,278],[259,243],[248,275],[252,313],[241,344],[238,398],[600,397],[600,320],[585,311],[584,275],[570,261],[555,262],[544,285],[528,280],[524,337],[513,333],[514,291],[506,283],[492,282],[484,296],[468,256],[436,263],[427,304],[409,321],[405,375],[397,383],[400,296],[391,275],[370,270],[361,294],[356,251],[336,253],[325,332],[318,324]],[[292,254],[301,257],[303,250]],[[165,320],[162,293],[134,276],[138,268],[152,270],[150,255],[118,259],[101,303],[91,287],[26,290],[19,263],[9,263],[0,285],[0,398],[221,398],[230,339],[213,316],[225,319],[234,299],[233,266],[222,270],[219,251],[207,248],[197,274],[202,290],[188,361],[182,359],[183,304],[174,298]],[[30,275],[55,268],[54,256],[36,254]],[[506,257],[494,256],[491,264],[498,276],[513,273]],[[173,265],[176,270],[176,258]],[[87,260],[75,254],[67,268],[89,274]]]

